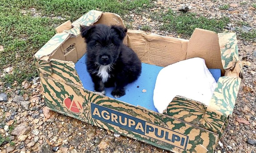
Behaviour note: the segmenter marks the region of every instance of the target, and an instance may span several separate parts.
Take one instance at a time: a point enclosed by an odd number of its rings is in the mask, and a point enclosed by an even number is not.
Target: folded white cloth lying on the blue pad
[[[156,78],[153,101],[162,113],[175,96],[208,106],[217,83],[202,58],[190,58],[164,67]]]

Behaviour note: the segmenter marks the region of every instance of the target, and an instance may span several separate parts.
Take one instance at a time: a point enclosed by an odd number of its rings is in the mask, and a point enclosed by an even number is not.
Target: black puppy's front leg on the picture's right
[[[115,89],[111,92],[111,95],[115,98],[119,98],[125,95],[125,86],[127,85],[126,77],[119,75],[115,81]]]

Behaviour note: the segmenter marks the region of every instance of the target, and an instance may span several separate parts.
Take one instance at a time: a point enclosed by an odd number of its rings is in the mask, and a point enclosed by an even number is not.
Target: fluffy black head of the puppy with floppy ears
[[[81,36],[87,43],[87,53],[95,58],[95,63],[109,65],[117,60],[126,28],[103,24],[80,27]]]

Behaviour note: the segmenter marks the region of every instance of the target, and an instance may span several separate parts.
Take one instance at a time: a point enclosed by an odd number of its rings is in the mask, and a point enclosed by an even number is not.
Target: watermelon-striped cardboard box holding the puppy
[[[221,69],[209,106],[176,96],[161,114],[83,88],[74,68],[86,52],[79,26],[98,23],[125,27],[119,15],[92,10],[57,27],[54,37],[34,55],[47,106],[169,151],[213,152],[232,115],[242,78],[235,33],[216,34],[197,28],[185,40],[128,30],[124,44],[144,63],[165,67],[201,57],[208,68]]]

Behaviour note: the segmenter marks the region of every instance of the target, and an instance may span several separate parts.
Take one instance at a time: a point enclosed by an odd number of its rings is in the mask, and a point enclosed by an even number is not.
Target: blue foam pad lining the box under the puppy
[[[94,84],[91,80],[90,74],[86,70],[86,55],[84,55],[78,62],[75,63],[75,69],[80,77],[80,80],[83,83],[84,89],[94,91]],[[128,84],[126,86],[126,94],[120,98],[116,98],[117,100],[124,101],[134,106],[142,106],[149,110],[156,111],[153,102],[153,93],[156,83],[156,77],[160,70],[163,67],[159,67],[156,65],[150,65],[146,63],[142,63],[142,72],[141,76],[138,80]],[[220,77],[220,70],[219,69],[209,69],[212,73],[213,77],[216,81]],[[218,71],[219,70],[219,71]],[[138,87],[137,87],[138,86]],[[105,88],[106,96],[114,98],[111,95],[111,91],[114,88]],[[146,92],[142,92],[145,89]]]

